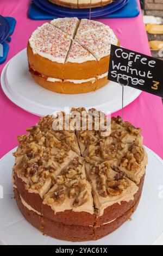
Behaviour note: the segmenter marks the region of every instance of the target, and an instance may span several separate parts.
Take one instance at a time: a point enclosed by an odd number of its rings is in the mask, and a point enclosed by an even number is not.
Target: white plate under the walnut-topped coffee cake
[[[11,150],[0,160],[0,237],[8,245],[72,245],[72,242],[43,236],[21,215],[13,198],[11,170],[14,164]],[[132,216],[114,233],[97,241],[78,242],[78,245],[163,245],[163,161],[146,148],[149,163],[140,204]],[[24,234],[24,230],[26,234]],[[0,240],[1,240],[0,239]]]

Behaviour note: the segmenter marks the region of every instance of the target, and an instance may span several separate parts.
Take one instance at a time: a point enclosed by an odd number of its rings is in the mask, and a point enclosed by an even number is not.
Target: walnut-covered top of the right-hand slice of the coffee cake
[[[124,173],[136,184],[140,184],[148,162],[140,132],[141,129],[129,122],[123,122],[120,117],[113,117],[110,136],[89,145],[84,156],[97,162],[109,161],[114,170]]]

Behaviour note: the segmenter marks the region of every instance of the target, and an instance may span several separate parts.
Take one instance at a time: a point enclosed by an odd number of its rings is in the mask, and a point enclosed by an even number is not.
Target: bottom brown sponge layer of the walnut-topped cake
[[[97,240],[106,235],[109,235],[117,228],[119,228],[124,222],[129,220],[130,216],[134,213],[139,204],[140,197],[137,198],[135,204],[128,209],[124,214],[115,221],[101,226],[84,226],[77,225],[74,221],[73,224],[64,224],[51,220],[47,217],[38,215],[36,212],[29,210],[21,202],[20,194],[17,189],[14,188],[15,199],[18,208],[26,220],[32,224],[35,228],[39,229],[43,234],[51,236],[55,239],[67,240],[72,242]],[[64,230],[64,232],[63,232]]]

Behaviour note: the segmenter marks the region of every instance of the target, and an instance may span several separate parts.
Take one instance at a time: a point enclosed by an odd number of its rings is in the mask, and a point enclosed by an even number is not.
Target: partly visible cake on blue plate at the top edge
[[[95,8],[95,7],[102,7],[107,4],[111,4],[112,0],[49,0],[49,2],[57,5],[61,5],[64,7],[71,7],[71,8]]]

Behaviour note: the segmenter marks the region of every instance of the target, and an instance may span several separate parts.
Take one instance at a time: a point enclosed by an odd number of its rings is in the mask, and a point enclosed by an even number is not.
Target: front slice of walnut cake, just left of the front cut
[[[92,188],[86,180],[84,159],[76,157],[57,176],[43,200],[43,216],[66,224],[93,225]]]

